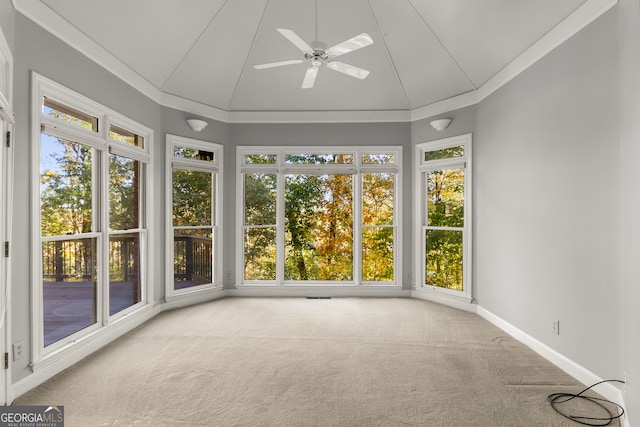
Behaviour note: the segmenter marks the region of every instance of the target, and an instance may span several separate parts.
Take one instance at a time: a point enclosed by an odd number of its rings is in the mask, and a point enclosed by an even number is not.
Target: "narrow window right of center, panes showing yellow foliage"
[[[419,144],[419,286],[471,297],[471,135]]]

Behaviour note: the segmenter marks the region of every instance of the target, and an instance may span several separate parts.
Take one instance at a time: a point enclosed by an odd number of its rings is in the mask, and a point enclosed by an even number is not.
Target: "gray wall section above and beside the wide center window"
[[[402,221],[403,235],[403,284],[409,289],[408,279],[411,273],[411,195],[412,193],[412,153],[411,126],[409,123],[314,123],[314,124],[232,124],[230,140],[235,146],[268,146],[268,145],[355,145],[355,146],[380,146],[400,145],[403,147],[403,199]],[[231,150],[229,150],[231,151]],[[233,156],[231,161],[225,164],[225,229],[235,229],[235,148],[234,153],[228,153],[225,157]],[[235,233],[225,235],[225,248],[231,251],[235,248],[233,239]],[[235,252],[227,252],[235,253]],[[235,279],[234,260],[231,257],[225,259],[225,271],[233,271]],[[235,280],[232,281],[235,283]]]

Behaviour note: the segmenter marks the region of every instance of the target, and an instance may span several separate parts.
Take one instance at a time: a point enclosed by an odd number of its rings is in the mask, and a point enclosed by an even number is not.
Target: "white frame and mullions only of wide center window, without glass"
[[[236,257],[235,271],[238,288],[250,287],[353,287],[366,289],[371,287],[402,287],[402,151],[400,145],[386,146],[238,146],[236,147]],[[367,164],[362,157],[368,154],[394,155],[394,163]],[[246,163],[246,155],[275,155],[275,163]],[[292,164],[285,158],[291,154],[352,154],[353,163],[328,164]],[[244,278],[244,174],[275,174],[276,189],[276,278],[275,280],[245,280]],[[353,279],[349,281],[328,280],[286,280],[285,279],[285,177],[288,174],[308,175],[349,174],[353,176]],[[362,176],[366,173],[391,173],[394,179],[394,278],[392,281],[362,280],[362,232],[367,226],[362,219]]]

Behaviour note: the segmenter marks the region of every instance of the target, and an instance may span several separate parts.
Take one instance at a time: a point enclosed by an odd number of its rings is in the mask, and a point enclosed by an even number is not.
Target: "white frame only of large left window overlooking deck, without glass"
[[[70,125],[57,120],[42,112],[44,97],[56,100],[70,108],[92,115],[98,119],[98,129],[92,131]],[[31,227],[33,230],[31,241],[31,265],[33,276],[31,280],[31,367],[35,371],[40,367],[49,366],[58,360],[71,348],[88,337],[110,329],[110,325],[130,317],[149,307],[154,300],[153,268],[148,255],[154,247],[153,216],[153,161],[152,144],[146,147],[126,146],[120,141],[109,138],[111,124],[124,127],[131,132],[141,135],[145,141],[153,140],[153,130],[128,117],[109,109],[59,83],[56,83],[36,72],[32,72],[31,92],[31,167],[32,167],[32,199]],[[48,135],[68,139],[74,143],[92,148],[92,231],[90,233],[72,236],[42,236],[40,206],[40,143],[41,135]],[[99,153],[99,154],[98,154]],[[109,315],[109,154],[114,153],[141,162],[143,182],[140,186],[140,213],[138,228],[132,230],[140,233],[140,301],[114,315]],[[68,238],[96,239],[96,323],[83,328],[50,345],[44,345],[44,316],[43,316],[43,282],[42,282],[42,243],[45,241],[66,240]]]

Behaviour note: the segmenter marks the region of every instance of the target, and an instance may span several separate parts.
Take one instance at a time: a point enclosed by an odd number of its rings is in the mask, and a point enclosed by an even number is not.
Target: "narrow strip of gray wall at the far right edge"
[[[640,425],[640,2],[618,2],[622,166],[622,366],[629,425]]]

